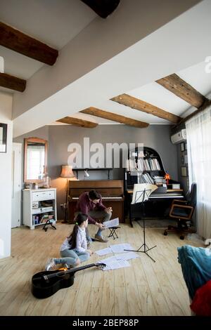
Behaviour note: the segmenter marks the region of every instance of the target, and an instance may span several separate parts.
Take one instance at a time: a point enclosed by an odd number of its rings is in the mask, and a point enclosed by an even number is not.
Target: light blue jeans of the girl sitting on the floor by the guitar
[[[87,251],[84,252],[79,252],[77,249],[66,249],[63,251],[60,251],[60,256],[62,258],[55,258],[54,262],[57,264],[62,263],[62,264],[67,264],[70,266],[75,267],[76,266],[76,261],[79,259],[82,263],[84,261],[87,261],[90,258],[90,254]]]

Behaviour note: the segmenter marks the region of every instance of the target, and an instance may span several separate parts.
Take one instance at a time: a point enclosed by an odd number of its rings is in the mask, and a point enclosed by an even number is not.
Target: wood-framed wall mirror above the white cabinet
[[[41,138],[25,138],[24,182],[40,183],[47,166],[48,142]]]

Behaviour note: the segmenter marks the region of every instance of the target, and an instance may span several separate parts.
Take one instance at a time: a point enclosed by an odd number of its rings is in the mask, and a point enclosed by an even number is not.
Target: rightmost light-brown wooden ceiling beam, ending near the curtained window
[[[195,88],[186,83],[186,81],[175,73],[165,78],[158,79],[156,83],[165,87],[168,91],[174,93],[174,95],[177,95],[190,105],[193,105],[193,107],[201,107],[206,100],[205,96],[196,91]]]

